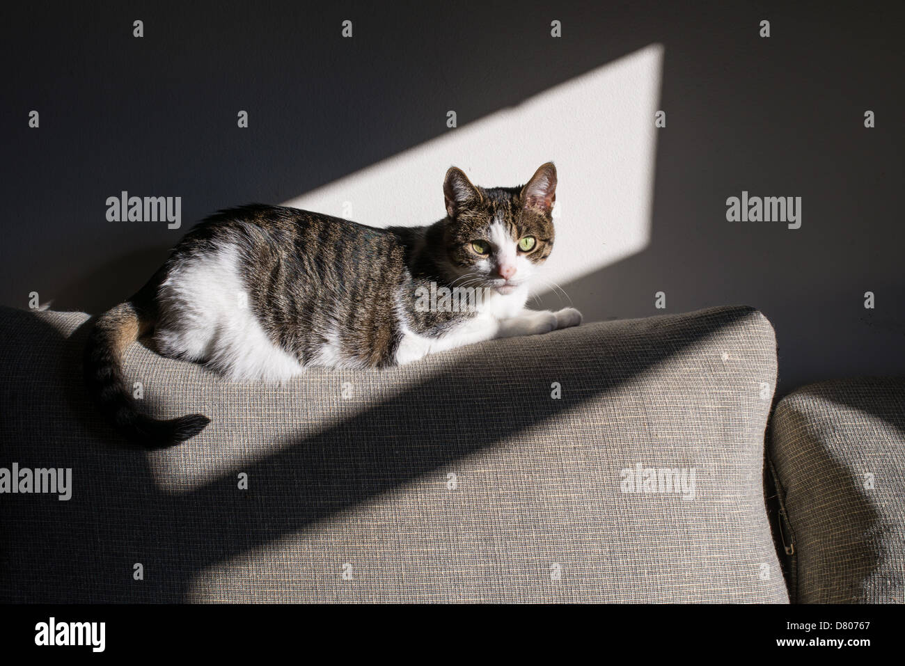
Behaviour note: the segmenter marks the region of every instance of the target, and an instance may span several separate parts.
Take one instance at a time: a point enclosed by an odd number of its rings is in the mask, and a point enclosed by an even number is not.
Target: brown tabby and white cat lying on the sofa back
[[[557,171],[525,186],[472,185],[446,172],[446,217],[380,229],[261,204],[220,211],[186,233],[129,300],[97,319],[85,348],[90,395],[147,448],[184,442],[210,423],[138,410],[121,356],[153,335],[157,352],[234,379],[281,381],[306,366],[386,367],[492,338],[577,326],[576,309],[525,309],[529,280],[553,249]],[[438,289],[482,294],[468,307],[424,307]],[[441,293],[444,293],[441,290]],[[435,299],[431,303],[435,303]]]

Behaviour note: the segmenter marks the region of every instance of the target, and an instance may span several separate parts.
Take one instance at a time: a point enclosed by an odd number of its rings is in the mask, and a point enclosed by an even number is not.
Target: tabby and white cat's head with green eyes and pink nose
[[[451,166],[443,181],[444,243],[456,284],[501,294],[525,285],[553,249],[556,189],[552,162],[525,186],[486,189]]]

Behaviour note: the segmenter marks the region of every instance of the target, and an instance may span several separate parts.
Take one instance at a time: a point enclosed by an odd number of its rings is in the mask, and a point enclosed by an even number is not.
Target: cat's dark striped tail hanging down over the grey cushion
[[[88,337],[84,373],[89,394],[120,433],[148,449],[162,449],[194,437],[211,420],[204,414],[189,414],[160,421],[138,410],[123,379],[122,354],[152,324],[130,301],[102,314]]]

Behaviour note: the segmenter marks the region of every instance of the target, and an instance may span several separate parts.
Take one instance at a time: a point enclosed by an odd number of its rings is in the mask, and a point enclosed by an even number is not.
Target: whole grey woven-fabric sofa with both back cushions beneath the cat
[[[0,601],[903,601],[905,382],[775,404],[757,309],[282,385],[142,340],[143,408],[212,419],[152,452],[85,395],[89,327],[0,310],[0,468],[71,470],[68,499],[0,494]]]

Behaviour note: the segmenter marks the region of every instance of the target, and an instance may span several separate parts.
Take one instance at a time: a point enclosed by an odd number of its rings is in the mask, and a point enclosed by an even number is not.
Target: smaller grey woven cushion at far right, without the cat
[[[770,439],[795,601],[905,601],[905,378],[800,388]]]

